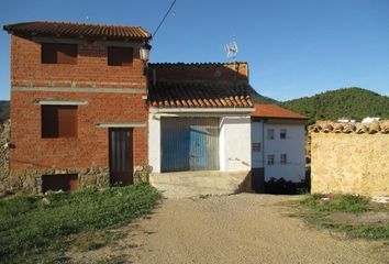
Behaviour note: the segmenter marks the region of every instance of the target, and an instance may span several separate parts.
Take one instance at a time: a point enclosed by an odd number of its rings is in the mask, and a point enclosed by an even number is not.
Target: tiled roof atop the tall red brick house
[[[60,35],[68,37],[108,37],[114,40],[149,40],[152,34],[141,26],[85,24],[70,22],[35,21],[4,25],[9,33]]]

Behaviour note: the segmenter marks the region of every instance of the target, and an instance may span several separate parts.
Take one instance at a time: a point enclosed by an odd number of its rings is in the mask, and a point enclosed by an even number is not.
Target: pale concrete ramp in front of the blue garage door
[[[245,188],[249,172],[179,172],[152,174],[151,184],[167,198],[236,194]]]

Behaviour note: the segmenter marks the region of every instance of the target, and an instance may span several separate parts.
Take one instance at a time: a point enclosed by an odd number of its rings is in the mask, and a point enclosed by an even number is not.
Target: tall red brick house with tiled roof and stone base
[[[58,22],[3,29],[11,34],[11,187],[131,184],[147,164],[140,51],[152,35],[140,26]]]

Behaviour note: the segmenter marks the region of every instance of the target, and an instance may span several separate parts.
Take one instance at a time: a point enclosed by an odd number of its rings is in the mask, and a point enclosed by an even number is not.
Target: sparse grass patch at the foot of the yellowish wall
[[[307,195],[300,200],[301,206],[309,210],[301,210],[298,216],[304,218],[311,224],[344,232],[349,238],[384,240],[386,241],[385,244],[389,244],[389,222],[344,223],[331,220],[331,215],[335,212],[356,216],[368,211],[389,213],[386,206],[374,205],[367,198],[360,196],[340,195],[325,197],[320,194]]]

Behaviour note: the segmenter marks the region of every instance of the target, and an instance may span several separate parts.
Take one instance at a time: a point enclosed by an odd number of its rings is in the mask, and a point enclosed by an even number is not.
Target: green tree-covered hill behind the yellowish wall
[[[358,87],[331,90],[312,97],[302,97],[280,106],[315,120],[351,118],[360,121],[366,117],[389,119],[389,97]]]

